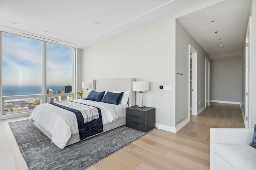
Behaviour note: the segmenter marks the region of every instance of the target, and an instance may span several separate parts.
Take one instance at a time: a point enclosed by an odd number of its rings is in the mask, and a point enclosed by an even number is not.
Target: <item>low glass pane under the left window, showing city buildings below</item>
[[[5,99],[4,114],[34,109],[41,102],[42,98]]]

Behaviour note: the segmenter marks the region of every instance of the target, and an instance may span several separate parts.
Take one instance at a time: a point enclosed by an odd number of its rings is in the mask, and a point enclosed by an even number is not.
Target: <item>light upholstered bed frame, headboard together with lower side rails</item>
[[[132,82],[136,81],[135,78],[122,78],[122,79],[100,79],[100,80],[93,80],[92,81],[92,90],[99,90],[99,91],[129,91],[129,106],[135,105],[135,91],[132,91]],[[111,129],[115,129],[122,125],[126,124],[126,116],[118,117],[118,119],[112,123],[108,123],[103,125],[103,132],[109,131]],[[42,127],[38,122],[34,121],[34,125],[38,127],[48,138],[52,139],[52,134],[50,134],[44,127]],[[102,133],[103,133],[102,132]],[[96,134],[98,135],[98,134]],[[95,136],[95,135],[93,135]],[[92,137],[92,136],[90,136]],[[88,137],[88,138],[90,138]],[[86,138],[86,139],[88,139]],[[68,143],[66,146],[71,145],[73,143],[77,143],[80,141],[79,133],[71,135]]]

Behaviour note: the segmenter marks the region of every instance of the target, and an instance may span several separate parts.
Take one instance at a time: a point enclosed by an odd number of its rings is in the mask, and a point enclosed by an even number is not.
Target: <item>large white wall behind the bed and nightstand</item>
[[[156,123],[175,127],[175,18],[151,22],[83,50],[84,82],[136,78],[150,82],[144,106],[156,107]],[[160,90],[171,85],[172,90]],[[137,103],[138,104],[138,103]],[[159,125],[158,125],[159,126]]]

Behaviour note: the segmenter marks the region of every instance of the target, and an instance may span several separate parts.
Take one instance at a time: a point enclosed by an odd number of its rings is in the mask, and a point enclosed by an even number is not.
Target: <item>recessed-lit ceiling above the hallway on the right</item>
[[[211,60],[240,57],[250,2],[251,0],[225,0],[177,20],[210,55]]]

